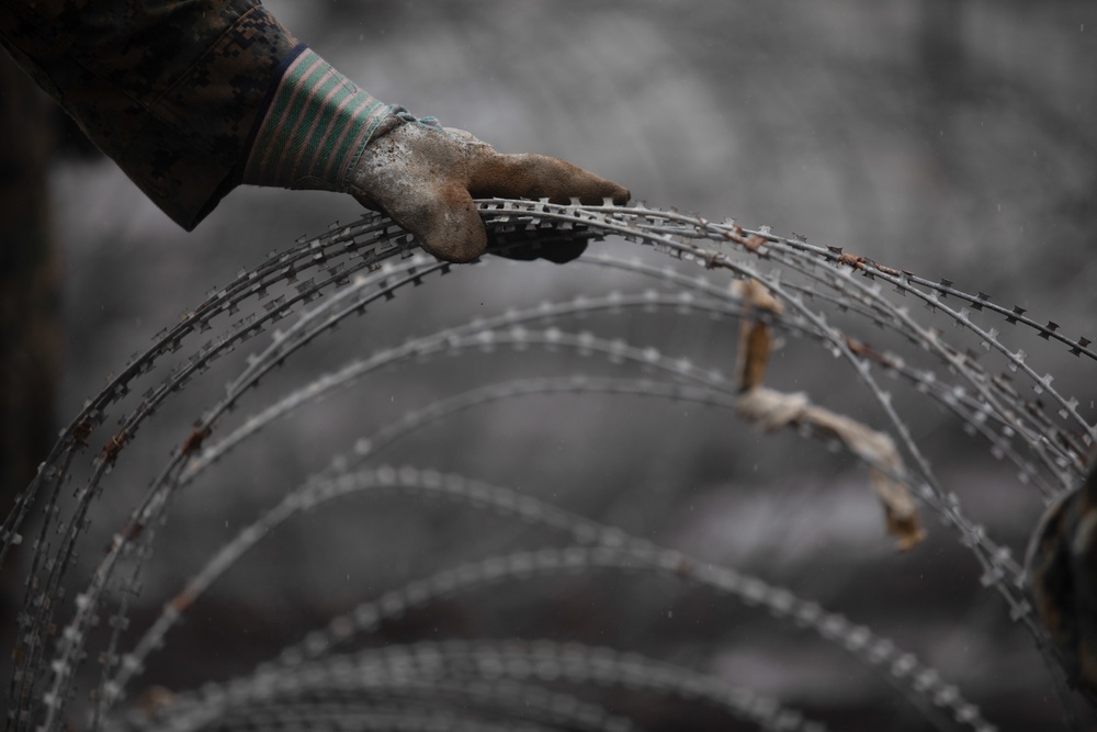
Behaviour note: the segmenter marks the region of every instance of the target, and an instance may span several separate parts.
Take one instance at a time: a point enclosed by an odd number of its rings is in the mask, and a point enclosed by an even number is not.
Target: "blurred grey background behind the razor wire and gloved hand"
[[[265,4],[378,99],[502,151],[563,157],[653,205],[770,225],[947,277],[1072,335],[1097,334],[1090,2]],[[56,158],[50,189],[64,262],[63,419],[211,288],[302,234],[359,215],[341,196],[240,189],[186,234],[110,160],[76,147],[69,138]],[[369,353],[374,340],[426,334],[446,318],[617,286],[614,275],[579,264],[491,267],[398,299],[338,342],[312,349],[306,363],[315,373]],[[637,315],[607,324],[598,325],[670,353],[725,358],[732,369],[732,323]],[[1060,350],[1042,368],[1092,418],[1093,364]],[[777,385],[871,420],[863,390],[835,381],[823,358],[779,354]],[[349,449],[363,425],[496,369],[575,369],[544,359],[486,354],[386,373],[365,393],[271,430],[262,450],[226,461],[179,502],[145,578],[149,605],[136,600],[135,616],[157,610],[195,571],[193,558],[323,468],[332,449]],[[185,432],[196,415],[182,402],[174,431],[150,431],[131,448],[133,475],[149,474]],[[788,585],[914,651],[1002,729],[1058,729],[1059,706],[1031,640],[981,590],[977,566],[953,536],[930,522],[928,541],[897,555],[859,465],[795,438],[758,437],[727,414],[640,402],[557,397],[486,408],[385,459],[520,487]],[[959,440],[948,416],[914,424],[942,483],[1021,552],[1039,498]],[[125,475],[111,482],[104,515],[144,487],[127,486]],[[237,567],[208,611],[179,631],[190,653],[154,662],[148,682],[186,688],[225,678],[387,587],[541,541],[513,523],[397,498],[350,506],[309,516]],[[840,653],[730,600],[668,584],[626,577],[493,589],[388,632],[604,643],[724,675],[835,729],[925,729],[886,684]],[[688,729],[690,719],[653,705],[647,729]]]

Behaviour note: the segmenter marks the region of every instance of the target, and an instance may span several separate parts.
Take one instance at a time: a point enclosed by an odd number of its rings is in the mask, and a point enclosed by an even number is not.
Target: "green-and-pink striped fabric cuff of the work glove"
[[[244,182],[343,191],[348,171],[392,113],[306,47],[274,90]]]

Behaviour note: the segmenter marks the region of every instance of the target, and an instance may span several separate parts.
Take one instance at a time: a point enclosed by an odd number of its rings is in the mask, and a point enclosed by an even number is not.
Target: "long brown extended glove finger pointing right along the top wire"
[[[612,199],[620,205],[631,196],[617,183],[544,155],[475,155],[468,160],[468,179],[474,198],[548,199],[561,204],[576,198],[587,205]]]

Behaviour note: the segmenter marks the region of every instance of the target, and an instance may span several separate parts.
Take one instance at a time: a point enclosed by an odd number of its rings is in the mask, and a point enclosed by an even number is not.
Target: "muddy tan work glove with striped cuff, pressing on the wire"
[[[629,200],[627,190],[569,162],[500,155],[466,132],[382,104],[307,48],[274,92],[244,182],[350,193],[452,262],[472,261],[487,248],[474,198]],[[567,261],[584,247],[554,245],[536,254]],[[530,251],[514,257],[529,258]]]

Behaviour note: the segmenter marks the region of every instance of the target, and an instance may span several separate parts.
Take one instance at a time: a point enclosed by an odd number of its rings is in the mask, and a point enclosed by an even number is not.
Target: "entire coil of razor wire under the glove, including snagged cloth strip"
[[[995,303],[982,292],[963,292],[948,280],[926,280],[834,247],[787,239],[768,230],[743,229],[731,221],[716,224],[695,215],[651,209],[643,204],[588,207],[490,200],[482,202],[480,206],[495,246],[551,246],[554,240],[620,236],[652,246],[672,259],[699,264],[702,271],[700,274],[697,270],[690,273],[688,269],[676,266],[656,267],[640,259],[588,254],[577,264],[624,270],[649,278],[663,290],[609,293],[548,303],[528,311],[509,311],[381,349],[369,358],[344,363],[297,391],[267,402],[262,410],[224,435],[217,433],[222,418],[238,405],[241,396],[255,390],[264,375],[299,349],[328,334],[344,318],[365,315],[393,297],[409,293],[417,285],[449,274],[453,268],[418,255],[415,243],[407,234],[380,215],[367,215],[351,225],[333,226],[324,235],[298,240],[286,251],[271,252],[259,267],[241,271],[225,288],[212,290],[205,302],[188,312],[176,326],[157,334],[148,351],[135,353],[122,373],[86,403],[81,413],[63,431],[37,478],[3,523],[0,558],[15,544],[31,545],[27,592],[19,618],[19,640],[13,654],[15,669],[9,694],[8,729],[43,729],[50,732],[60,729],[70,705],[77,698],[78,671],[88,664],[89,658],[101,665],[98,674],[101,680],[91,690],[90,702],[76,705],[81,710],[91,710],[87,727],[133,724],[134,718],[126,717],[125,705],[122,703],[129,683],[139,676],[147,655],[170,640],[168,630],[202,592],[281,522],[342,493],[367,487],[448,491],[451,497],[456,496],[474,505],[554,526],[568,532],[573,540],[588,545],[558,550],[556,553],[547,551],[493,558],[478,565],[467,565],[450,574],[414,583],[396,595],[389,594],[377,600],[380,605],[367,603],[355,613],[333,622],[329,630],[317,631],[304,646],[289,649],[280,660],[260,668],[255,676],[227,686],[211,687],[207,696],[223,694],[228,695],[225,698],[230,698],[234,694],[231,689],[245,689],[241,694],[248,699],[248,713],[260,714],[252,701],[265,698],[263,694],[271,689],[283,688],[279,686],[279,678],[286,679],[289,686],[284,688],[297,689],[301,684],[310,683],[308,679],[330,677],[330,683],[338,688],[343,688],[340,684],[357,684],[354,688],[367,696],[381,695],[393,702],[391,707],[373,705],[365,710],[336,699],[330,708],[325,708],[324,713],[333,716],[332,719],[354,719],[358,720],[354,723],[363,729],[378,725],[434,729],[431,724],[436,724],[437,720],[412,713],[414,702],[396,703],[399,699],[414,699],[422,694],[438,695],[439,698],[449,695],[449,698],[460,700],[454,703],[467,703],[473,697],[483,700],[495,698],[491,694],[498,692],[502,694],[496,699],[498,705],[517,703],[516,699],[525,692],[523,689],[535,680],[536,674],[508,673],[491,677],[491,682],[506,679],[519,684],[507,687],[510,690],[506,692],[498,689],[488,692],[479,686],[475,687],[475,691],[471,690],[470,684],[484,680],[477,676],[478,672],[431,677],[429,682],[423,682],[431,687],[430,690],[410,683],[400,689],[382,689],[383,684],[373,683],[371,686],[370,682],[363,680],[372,678],[363,669],[376,669],[378,666],[375,664],[382,662],[371,656],[346,656],[329,654],[328,651],[339,645],[342,635],[369,632],[371,623],[375,623],[384,612],[421,604],[478,582],[500,577],[522,578],[564,568],[592,571],[627,566],[670,573],[679,579],[762,606],[777,617],[813,628],[821,637],[879,669],[915,703],[925,702],[938,710],[929,713],[945,712],[952,720],[976,730],[995,729],[963,699],[954,686],[940,679],[936,672],[913,655],[874,637],[867,628],[802,600],[784,588],[732,570],[705,565],[672,550],[652,547],[562,509],[517,498],[502,488],[486,488],[475,482],[417,469],[385,472],[370,471],[366,465],[377,451],[425,425],[491,401],[533,393],[601,392],[697,401],[726,407],[759,427],[790,426],[807,438],[837,439],[838,447],[844,447],[867,464],[874,484],[879,481],[884,486],[880,488],[878,485],[878,494],[889,510],[890,528],[900,543],[909,545],[920,538],[920,523],[916,514],[912,513],[914,504],[906,503],[913,497],[923,510],[936,515],[957,533],[982,566],[982,584],[1000,595],[1010,617],[1031,632],[1038,646],[1045,649],[1045,633],[1034,620],[1026,598],[1020,563],[1008,548],[995,541],[983,527],[968,517],[954,493],[940,485],[930,461],[894,406],[890,392],[881,385],[880,376],[891,376],[908,384],[916,393],[955,415],[971,433],[985,438],[992,454],[1016,466],[1022,483],[1039,492],[1045,500],[1051,500],[1081,481],[1083,455],[1093,446],[1097,429],[1083,418],[1077,399],[1061,394],[1053,386],[1051,374],[1039,372],[1029,363],[1024,350],[1010,347],[995,324],[1000,325],[1004,320],[1033,331],[1049,345],[1059,346],[1074,356],[1097,360],[1090,341],[1070,338],[1054,322],[1033,319],[1022,308]],[[747,294],[744,283],[760,288],[765,297],[760,299],[757,293]],[[768,304],[761,306],[764,302]],[[951,322],[957,326],[957,336],[947,338],[940,329],[924,325],[921,316],[913,314],[912,303],[920,303],[936,316]],[[737,372],[728,376],[695,365],[686,358],[664,354],[652,347],[604,339],[589,333],[567,333],[552,324],[558,317],[597,311],[647,312],[660,308],[686,316],[708,314],[743,323],[743,362]],[[287,319],[294,314],[298,317]],[[897,336],[893,340],[906,344],[911,352],[877,350],[871,344],[853,338],[842,327],[832,324],[841,318],[860,318],[884,333],[891,333]],[[759,354],[764,351],[768,354],[769,339],[773,334],[788,334],[815,344],[845,362],[853,378],[879,404],[884,424],[874,425],[872,429],[850,425],[842,415],[813,407],[806,403],[806,397],[790,402],[783,398],[790,395],[773,398],[773,394],[760,392],[766,363]],[[167,401],[183,393],[192,380],[219,358],[260,335],[268,336],[268,340],[259,341],[263,344],[261,350],[249,358],[220,398],[204,406],[193,429],[180,435],[179,448],[159,473],[151,476],[148,491],[133,509],[126,525],[113,536],[105,556],[90,579],[68,576],[88,528],[92,503],[106,484],[116,462],[124,460],[128,446],[145,420]],[[963,339],[974,342],[975,349],[996,354],[1005,370],[996,372],[983,365],[976,350],[960,345]],[[496,348],[573,350],[604,358],[625,369],[638,369],[647,375],[643,379],[613,380],[576,375],[490,384],[429,405],[397,423],[383,426],[374,433],[363,436],[351,454],[335,458],[329,470],[290,493],[271,514],[257,519],[236,540],[226,544],[206,570],[166,605],[160,619],[139,639],[135,640],[133,633],[127,632],[131,598],[140,592],[143,565],[151,552],[157,528],[168,518],[172,495],[214,465],[220,457],[261,435],[263,427],[275,419],[292,416],[302,405],[320,398],[333,388],[366,379],[384,367]],[[757,358],[751,358],[751,354]],[[167,375],[163,375],[165,372]],[[135,399],[136,406],[123,409],[121,403],[136,390],[144,390]],[[759,402],[759,397],[766,398]],[[760,416],[758,409],[761,409]],[[783,416],[774,417],[778,413]],[[116,421],[117,427],[105,427],[109,420]],[[88,455],[91,455],[90,465],[81,472],[81,460]],[[29,518],[29,507],[35,500],[41,506],[36,509],[41,510],[41,517],[37,517],[41,520],[35,534],[24,541],[21,531]],[[67,593],[75,594],[68,596]],[[90,646],[90,629],[104,623],[110,628],[105,633],[105,644],[102,647]],[[466,671],[478,668],[480,662],[477,658],[482,656],[493,658],[493,667],[509,667],[510,664],[501,660],[511,652],[507,649],[490,644],[454,649],[457,646],[439,646],[431,653],[444,661],[439,661],[442,665],[450,663],[448,654],[455,654],[463,658],[461,667]],[[731,705],[740,717],[755,721],[764,729],[818,729],[773,700],[756,697],[746,690],[728,690],[719,680],[702,679],[688,669],[668,671],[669,667],[648,662],[636,662],[640,665],[633,667],[635,664],[631,660],[623,666],[614,666],[604,661],[610,657],[606,655],[609,652],[578,647],[562,651],[541,644],[521,653],[527,654],[524,663],[536,668],[553,667],[557,676],[561,673],[581,676],[596,673],[598,668],[604,671],[612,667],[617,671],[606,672],[609,676],[600,677],[602,680],[612,677],[613,683],[655,684],[665,690],[678,689],[680,692],[688,688],[693,696]],[[415,654],[408,657],[412,656],[418,657]],[[578,667],[583,663],[577,658],[593,665],[580,671]],[[349,676],[339,676],[342,673]],[[337,677],[344,680],[336,680]],[[350,677],[357,680],[346,680]],[[182,727],[192,727],[186,722],[190,718],[185,714],[201,717],[205,713],[195,709],[222,709],[210,698],[199,699],[201,696],[195,697],[195,707],[185,703],[178,707],[183,710],[179,718]],[[561,697],[565,698],[572,699]],[[235,707],[230,709],[231,703],[225,703],[225,724],[244,724],[242,712]],[[552,714],[581,708],[581,703],[574,699],[545,703],[548,705],[545,707],[547,717],[528,720],[540,725],[535,729],[556,729],[563,722],[550,719]],[[291,707],[289,705],[285,709],[287,718],[307,712],[303,707]],[[191,711],[185,711],[188,709]],[[273,707],[268,711],[270,709]],[[773,711],[760,714],[759,709]],[[576,713],[584,719],[602,720],[597,724],[591,722],[589,729],[632,729],[619,727],[611,716]],[[626,721],[621,723],[626,724]],[[516,723],[506,729],[525,728]]]

